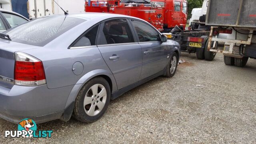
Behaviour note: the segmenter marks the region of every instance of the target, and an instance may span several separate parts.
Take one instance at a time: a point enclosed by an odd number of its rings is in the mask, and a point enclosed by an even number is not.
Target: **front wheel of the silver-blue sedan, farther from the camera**
[[[168,65],[167,65],[167,70],[165,76],[167,78],[173,77],[176,73],[177,67],[178,67],[178,55],[176,52],[172,54],[172,57],[170,58]]]

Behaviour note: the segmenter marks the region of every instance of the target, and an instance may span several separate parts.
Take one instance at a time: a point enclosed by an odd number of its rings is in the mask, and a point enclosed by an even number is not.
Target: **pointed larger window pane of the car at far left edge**
[[[10,24],[10,26],[12,28],[15,26],[18,26],[20,24],[23,24],[25,22],[28,22],[28,20],[26,20],[20,16],[16,16],[14,14],[8,14],[8,13],[2,13],[2,14],[6,18],[6,20],[8,21],[8,23]]]

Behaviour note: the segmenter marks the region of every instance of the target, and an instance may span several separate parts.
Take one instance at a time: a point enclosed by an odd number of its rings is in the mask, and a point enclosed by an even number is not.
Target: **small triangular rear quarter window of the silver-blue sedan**
[[[80,38],[73,47],[80,47],[80,46],[94,46],[96,45],[96,36],[98,32],[98,26],[94,26],[89,32],[86,32],[82,38]]]

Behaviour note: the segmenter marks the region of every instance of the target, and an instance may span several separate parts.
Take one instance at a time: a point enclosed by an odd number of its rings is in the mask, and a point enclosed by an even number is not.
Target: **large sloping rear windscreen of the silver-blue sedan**
[[[74,26],[85,22],[69,16],[48,16],[32,20],[4,32],[12,41],[34,46],[44,46]]]

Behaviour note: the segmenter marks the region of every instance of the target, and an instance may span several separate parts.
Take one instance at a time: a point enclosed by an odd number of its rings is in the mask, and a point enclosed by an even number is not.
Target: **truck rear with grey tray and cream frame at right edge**
[[[210,0],[206,25],[211,26],[208,51],[224,54],[227,65],[244,67],[248,58],[256,59],[256,1]],[[219,34],[226,38],[217,38]],[[225,42],[223,49],[211,44]]]

